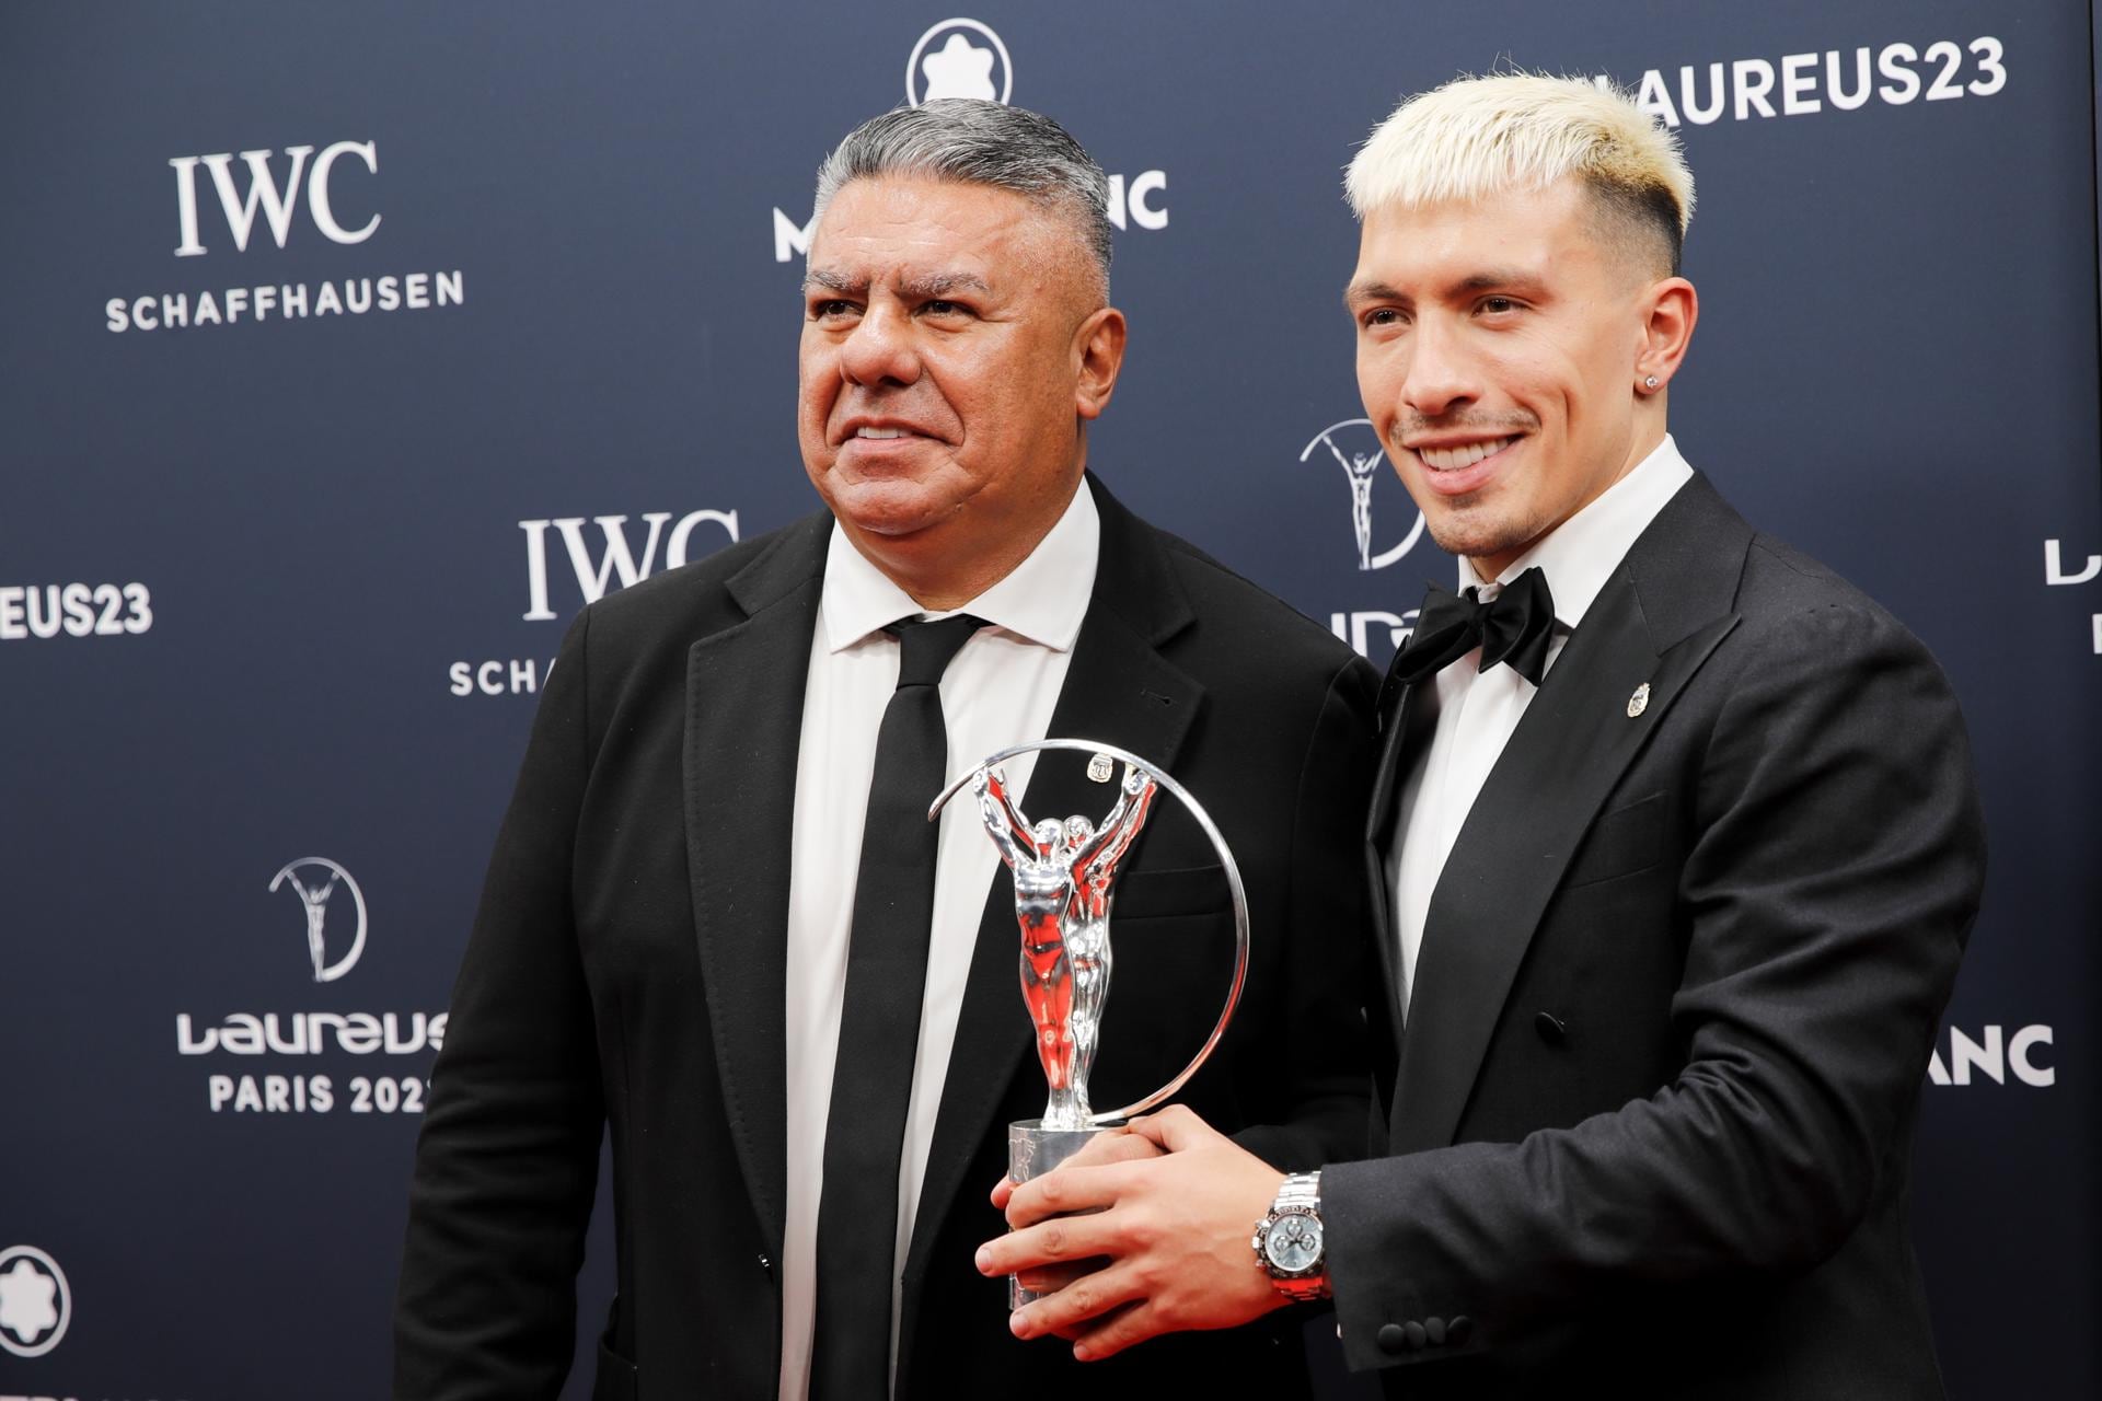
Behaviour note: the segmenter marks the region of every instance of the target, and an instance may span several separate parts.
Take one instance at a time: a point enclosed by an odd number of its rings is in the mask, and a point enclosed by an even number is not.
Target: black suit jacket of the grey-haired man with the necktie
[[[1358,846],[1377,674],[1093,477],[1089,489],[1099,567],[1049,733],[1173,773],[1225,834],[1253,914],[1240,1015],[1179,1099],[1278,1168],[1362,1153],[1373,956]],[[818,515],[731,546],[570,628],[416,1147],[397,1397],[557,1395],[607,1126],[618,1304],[595,1397],[776,1395],[788,838],[830,527]],[[1080,769],[1040,762],[1024,811],[1099,817],[1114,788]],[[1154,804],[1125,861],[1112,937],[1097,1105],[1165,1084],[1225,1000],[1230,895],[1177,802]],[[1085,1369],[1070,1344],[1007,1332],[1007,1285],[971,1254],[1005,1229],[988,1193],[1007,1168],[1007,1124],[1040,1115],[1047,1094],[1019,947],[1001,872],[904,1264],[895,1395],[1303,1393],[1295,1319]]]

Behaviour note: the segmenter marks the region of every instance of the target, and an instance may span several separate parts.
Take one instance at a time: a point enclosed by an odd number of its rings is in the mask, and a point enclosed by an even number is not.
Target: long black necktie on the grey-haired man
[[[898,636],[898,689],[877,731],[839,1059],[824,1122],[811,1401],[883,1401],[891,1388],[898,1162],[933,924],[937,828],[927,821],[927,804],[948,777],[948,731],[935,687],[982,626],[959,613],[887,628]]]

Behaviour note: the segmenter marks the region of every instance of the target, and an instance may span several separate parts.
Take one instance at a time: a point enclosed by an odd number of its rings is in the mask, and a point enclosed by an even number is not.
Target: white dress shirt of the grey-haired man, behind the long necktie
[[[1013,744],[1043,739],[1066,685],[1080,620],[1095,588],[1101,523],[1080,485],[1066,515],[1007,578],[959,613],[990,626],[975,632],[942,674],[948,771]],[[809,1390],[818,1304],[818,1199],[824,1191],[824,1124],[839,1057],[839,1012],[847,987],[853,882],[862,859],[877,729],[898,689],[898,641],[883,632],[919,618],[898,584],[832,527],[824,597],[803,687],[803,739],[795,767],[795,836],[788,867],[788,1204],[782,1241],[782,1401]],[[944,613],[946,615],[946,613]],[[1026,792],[1034,754],[1003,765],[1009,788]],[[977,809],[942,811],[935,851],[933,930],[921,1002],[912,1101],[898,1164],[898,1269],[904,1269],[919,1210],[927,1149],[956,1040],[963,983],[977,943],[977,918],[1001,865]],[[1015,945],[1015,958],[1019,958]],[[1015,1025],[1022,1025],[1015,994]],[[895,1275],[893,1275],[895,1277]],[[891,1296],[891,1357],[898,1357],[898,1298]]]

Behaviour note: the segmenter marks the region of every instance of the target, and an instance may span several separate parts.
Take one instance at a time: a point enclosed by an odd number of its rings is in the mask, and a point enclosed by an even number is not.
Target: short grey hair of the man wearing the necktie
[[[1110,176],[1064,126],[1024,107],[944,97],[868,118],[818,166],[813,223],[849,181],[921,176],[1013,191],[1080,237],[1110,298]]]

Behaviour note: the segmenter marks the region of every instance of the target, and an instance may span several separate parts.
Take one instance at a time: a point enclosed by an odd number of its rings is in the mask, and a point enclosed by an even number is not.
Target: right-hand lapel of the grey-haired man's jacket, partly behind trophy
[[[1173,771],[1204,689],[1167,662],[1158,645],[1181,632],[1194,615],[1152,527],[1125,510],[1093,475],[1089,483],[1101,515],[1101,552],[1087,618],[1047,737],[1101,739]],[[975,758],[952,754],[950,769],[961,771]],[[1074,756],[1064,758],[1068,762],[1036,765],[1022,794],[1022,811],[1030,817],[1072,813],[1099,817],[1110,804],[1108,788],[1091,783],[1080,765],[1070,762]],[[1141,836],[1141,851],[1143,844]],[[902,1330],[906,1340],[912,1338],[916,1283],[925,1273],[927,1252],[956,1193],[967,1187],[963,1178],[988,1134],[998,1132],[1005,1138],[1005,1128],[996,1126],[994,1117],[1032,1046],[1028,1012],[1015,985],[1019,956],[1013,886],[1007,872],[996,872],[977,922],[977,943],[956,1017],[956,1042],[948,1057],[942,1109],[935,1115],[927,1178],[906,1256]],[[992,1183],[969,1183],[973,1193],[990,1187]]]

